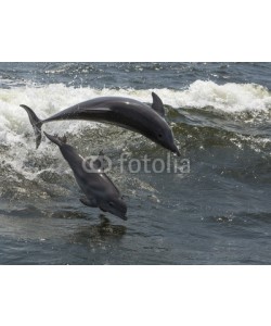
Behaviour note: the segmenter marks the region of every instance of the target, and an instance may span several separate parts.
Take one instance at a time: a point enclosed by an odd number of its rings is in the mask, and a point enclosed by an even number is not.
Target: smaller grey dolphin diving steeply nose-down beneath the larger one
[[[103,170],[99,166],[92,172],[89,171],[90,166],[86,170],[88,162],[78,155],[70,145],[66,143],[66,137],[61,138],[47,133],[44,135],[59,146],[63,158],[73,170],[76,181],[86,196],[80,198],[81,203],[91,208],[100,208],[103,212],[109,212],[126,221],[127,205],[122,201],[119,190],[103,173]]]

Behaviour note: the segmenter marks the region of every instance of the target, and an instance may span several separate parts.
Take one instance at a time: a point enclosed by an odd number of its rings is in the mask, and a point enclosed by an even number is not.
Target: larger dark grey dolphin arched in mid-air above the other
[[[86,120],[114,124],[144,135],[154,142],[180,155],[172,131],[165,121],[165,109],[160,98],[152,92],[152,108],[140,101],[121,97],[95,98],[66,110],[49,118],[39,120],[27,105],[21,104],[29,116],[36,135],[36,147],[41,142],[41,126],[44,123],[64,120]]]

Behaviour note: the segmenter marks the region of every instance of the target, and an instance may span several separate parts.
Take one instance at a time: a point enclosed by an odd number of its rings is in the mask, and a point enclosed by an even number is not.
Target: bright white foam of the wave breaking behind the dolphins
[[[44,154],[42,151],[35,151],[35,137],[26,112],[20,104],[26,104],[34,109],[40,118],[46,118],[69,105],[79,103],[100,96],[122,96],[131,97],[143,102],[152,102],[151,92],[155,91],[163,99],[165,104],[173,108],[205,108],[212,106],[215,110],[222,110],[234,114],[243,111],[268,112],[271,109],[270,91],[254,84],[224,84],[217,85],[214,82],[196,80],[186,89],[93,89],[91,87],[74,88],[63,84],[51,84],[48,86],[13,87],[0,89],[0,145],[8,146],[4,153],[4,164],[10,164],[15,171],[24,171],[31,177],[35,171],[27,170],[24,161],[31,152],[35,158]],[[48,133],[77,134],[83,128],[92,128],[98,124],[90,122],[62,122],[47,125]],[[59,128],[59,129],[56,129]],[[33,137],[25,137],[26,134]],[[42,143],[44,146],[44,142]],[[56,155],[56,147],[46,147],[48,155]],[[14,160],[20,155],[21,160]],[[3,164],[3,163],[2,163]],[[39,170],[36,168],[36,173]]]

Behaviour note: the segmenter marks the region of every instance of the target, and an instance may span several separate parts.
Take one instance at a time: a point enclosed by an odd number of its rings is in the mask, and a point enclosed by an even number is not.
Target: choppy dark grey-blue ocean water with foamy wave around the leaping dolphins
[[[152,91],[181,158],[115,126],[43,126],[112,159],[128,221],[83,206],[59,149],[43,138],[36,150],[20,104],[46,118],[100,96],[151,103]],[[120,172],[121,153],[147,155],[150,173]],[[0,264],[271,263],[270,63],[0,63]],[[156,159],[190,168],[155,173]]]

